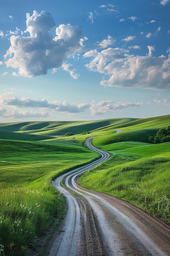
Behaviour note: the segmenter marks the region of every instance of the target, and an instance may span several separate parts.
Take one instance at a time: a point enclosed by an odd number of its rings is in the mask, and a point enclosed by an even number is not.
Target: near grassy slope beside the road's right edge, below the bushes
[[[170,157],[134,160],[134,155],[114,154],[84,173],[79,184],[127,200],[170,223]]]

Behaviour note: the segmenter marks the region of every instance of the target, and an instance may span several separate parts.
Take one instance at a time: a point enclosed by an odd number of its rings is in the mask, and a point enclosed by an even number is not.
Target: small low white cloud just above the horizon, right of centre
[[[117,102],[114,101],[100,101],[98,103],[93,102],[91,105],[91,115],[103,115],[111,111],[120,110],[128,107],[138,107],[142,106],[142,102],[132,103],[132,102]]]

